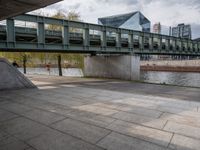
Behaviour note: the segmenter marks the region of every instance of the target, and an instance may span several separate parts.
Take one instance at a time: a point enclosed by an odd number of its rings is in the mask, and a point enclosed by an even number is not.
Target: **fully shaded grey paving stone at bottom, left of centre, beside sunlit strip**
[[[96,143],[98,140],[110,133],[109,130],[72,119],[60,121],[53,124],[52,127],[90,143]]]

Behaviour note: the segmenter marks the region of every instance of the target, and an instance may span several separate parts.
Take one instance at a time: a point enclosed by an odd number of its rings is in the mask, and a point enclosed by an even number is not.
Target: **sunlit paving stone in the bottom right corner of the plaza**
[[[174,150],[199,150],[200,140],[175,134],[169,147]]]

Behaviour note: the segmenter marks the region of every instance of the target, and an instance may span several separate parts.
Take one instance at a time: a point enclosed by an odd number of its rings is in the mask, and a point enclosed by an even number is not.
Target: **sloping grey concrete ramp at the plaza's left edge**
[[[17,68],[0,58],[0,90],[36,88]]]

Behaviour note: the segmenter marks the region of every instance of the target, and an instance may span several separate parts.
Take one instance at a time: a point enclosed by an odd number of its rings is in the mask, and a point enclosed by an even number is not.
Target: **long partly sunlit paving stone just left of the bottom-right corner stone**
[[[168,146],[172,138],[172,133],[119,120],[113,122],[110,126],[108,126],[108,128],[113,131],[120,132],[122,134],[136,137],[165,147]]]

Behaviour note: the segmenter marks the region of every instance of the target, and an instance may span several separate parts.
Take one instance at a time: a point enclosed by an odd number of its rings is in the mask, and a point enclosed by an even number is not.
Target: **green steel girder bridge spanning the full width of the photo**
[[[24,14],[0,25],[0,51],[200,56],[200,42]]]

